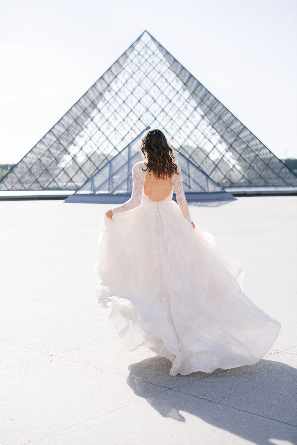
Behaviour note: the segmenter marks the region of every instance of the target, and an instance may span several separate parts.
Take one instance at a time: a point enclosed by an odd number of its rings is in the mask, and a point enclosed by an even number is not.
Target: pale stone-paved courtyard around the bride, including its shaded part
[[[259,363],[188,376],[128,352],[96,301],[110,207],[0,202],[0,444],[297,444],[297,196],[190,205],[282,326]]]

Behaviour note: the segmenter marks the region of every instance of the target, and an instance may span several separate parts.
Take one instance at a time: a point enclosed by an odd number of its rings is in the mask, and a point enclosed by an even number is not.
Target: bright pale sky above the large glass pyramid
[[[2,0],[0,163],[146,29],[279,158],[297,158],[296,0]]]

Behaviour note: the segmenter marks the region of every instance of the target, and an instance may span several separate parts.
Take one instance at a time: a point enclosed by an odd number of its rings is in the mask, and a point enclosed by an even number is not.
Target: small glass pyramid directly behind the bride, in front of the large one
[[[139,151],[142,134],[114,156],[66,201],[121,203],[130,198],[133,188],[132,167],[143,159]],[[204,200],[233,199],[231,194],[223,190],[183,154],[179,153],[177,157],[183,175],[183,190],[188,201],[201,198],[201,194],[208,195],[203,196]]]

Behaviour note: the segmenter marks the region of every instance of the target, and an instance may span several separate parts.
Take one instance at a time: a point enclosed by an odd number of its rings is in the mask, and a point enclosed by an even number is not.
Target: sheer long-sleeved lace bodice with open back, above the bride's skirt
[[[152,201],[146,194],[144,194],[144,184],[146,180],[146,171],[142,170],[142,166],[146,164],[144,161],[137,162],[134,164],[132,168],[132,178],[133,178],[133,190],[131,194],[131,198],[128,201],[123,202],[120,206],[113,207],[112,213],[115,212],[123,212],[126,210],[131,210],[134,207],[139,206],[141,201],[150,201],[150,202],[164,202],[164,201],[172,201],[173,196],[173,188],[175,188],[175,196],[178,202],[179,208],[183,214],[183,216],[192,222],[191,215],[189,211],[189,206],[187,203],[186,196],[183,191],[183,179],[181,174],[181,169],[178,161],[175,161],[177,166],[177,171],[179,174],[173,174],[171,177],[172,188],[170,194],[167,195],[165,199],[162,201]]]

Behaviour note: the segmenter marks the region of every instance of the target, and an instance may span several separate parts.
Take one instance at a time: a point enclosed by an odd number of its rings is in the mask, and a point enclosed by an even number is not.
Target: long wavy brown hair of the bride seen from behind
[[[158,178],[165,179],[167,175],[171,176],[176,173],[177,166],[174,163],[175,158],[173,148],[168,144],[164,133],[157,128],[150,128],[142,136],[139,150],[144,154],[146,159],[146,170],[152,171]]]

